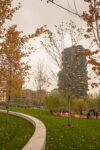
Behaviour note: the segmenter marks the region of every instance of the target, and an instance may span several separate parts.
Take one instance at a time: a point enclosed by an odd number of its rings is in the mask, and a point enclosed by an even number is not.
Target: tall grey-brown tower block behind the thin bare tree
[[[82,97],[87,94],[87,63],[81,45],[65,48],[62,52],[62,70],[58,73],[59,89],[70,88],[71,95]]]

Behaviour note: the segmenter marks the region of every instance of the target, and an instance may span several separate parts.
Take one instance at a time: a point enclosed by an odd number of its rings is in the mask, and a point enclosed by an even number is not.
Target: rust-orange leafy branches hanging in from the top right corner
[[[58,3],[56,0],[46,0],[46,2],[56,5],[66,12],[79,17],[79,19],[83,20],[86,23],[87,28],[84,32],[84,38],[86,40],[90,40],[93,44],[93,52],[91,51],[91,49],[88,49],[86,50],[84,55],[89,58],[88,63],[93,66],[92,70],[94,71],[94,73],[97,76],[100,76],[100,0],[83,0],[82,3],[86,4],[87,7],[83,7],[81,13],[75,0],[73,0],[73,8],[70,7],[69,0],[67,0],[67,4],[69,6],[68,8],[63,6],[63,1],[60,1]],[[96,85],[97,87],[99,84],[93,83],[92,86]]]

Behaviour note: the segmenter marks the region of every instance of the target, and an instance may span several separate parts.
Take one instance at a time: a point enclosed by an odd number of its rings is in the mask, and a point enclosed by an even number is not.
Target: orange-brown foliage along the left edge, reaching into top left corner
[[[4,39],[4,34],[6,32],[6,27],[4,27],[4,24],[6,20],[11,20],[14,12],[20,8],[20,3],[15,7],[12,8],[12,0],[1,0],[0,1],[0,83],[2,80],[2,70],[4,69],[2,60],[3,60],[3,54],[2,54],[2,48],[1,44]]]

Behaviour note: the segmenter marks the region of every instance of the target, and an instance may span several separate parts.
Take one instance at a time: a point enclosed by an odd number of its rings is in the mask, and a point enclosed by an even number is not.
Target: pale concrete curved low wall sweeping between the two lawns
[[[6,113],[6,110],[0,110],[0,112]],[[22,150],[45,150],[46,128],[44,124],[35,117],[26,114],[12,111],[9,111],[9,114],[24,118],[35,126],[35,132],[33,136],[30,138],[28,143],[22,148]]]

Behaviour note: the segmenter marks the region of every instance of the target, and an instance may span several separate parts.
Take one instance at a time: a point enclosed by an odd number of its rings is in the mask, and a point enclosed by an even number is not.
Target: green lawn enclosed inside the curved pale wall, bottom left
[[[6,126],[5,119],[6,115],[0,113],[0,150],[21,150],[35,128],[28,121],[12,115]]]

